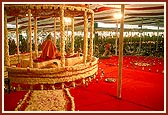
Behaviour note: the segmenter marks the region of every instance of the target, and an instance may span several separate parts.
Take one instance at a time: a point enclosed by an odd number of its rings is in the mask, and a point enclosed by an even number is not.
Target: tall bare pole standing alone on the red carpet
[[[117,97],[121,98],[122,88],[122,63],[123,63],[123,32],[124,32],[124,4],[121,5],[122,18],[120,22],[120,38],[119,38],[119,66],[118,66],[118,86]]]

